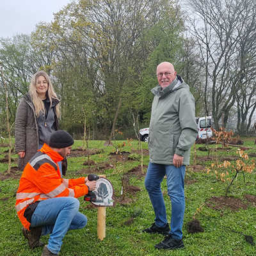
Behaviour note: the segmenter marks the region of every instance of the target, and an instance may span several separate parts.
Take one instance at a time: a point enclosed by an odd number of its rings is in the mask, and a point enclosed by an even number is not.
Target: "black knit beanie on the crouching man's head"
[[[52,148],[66,148],[74,144],[74,140],[68,132],[58,130],[51,134],[49,146]]]

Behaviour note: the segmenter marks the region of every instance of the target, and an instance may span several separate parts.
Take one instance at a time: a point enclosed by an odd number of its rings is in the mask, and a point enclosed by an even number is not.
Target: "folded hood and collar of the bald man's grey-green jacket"
[[[155,96],[161,98],[161,97],[165,97],[169,93],[175,92],[175,91],[180,90],[182,88],[186,88],[187,90],[189,90],[188,84],[186,84],[182,80],[182,78],[177,75],[176,78],[172,81],[172,83],[170,83],[167,87],[162,88],[159,84],[157,84],[157,86],[154,87],[151,90],[151,92]]]

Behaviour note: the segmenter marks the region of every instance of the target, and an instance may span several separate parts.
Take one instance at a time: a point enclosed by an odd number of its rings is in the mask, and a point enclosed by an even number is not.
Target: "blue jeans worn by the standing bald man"
[[[172,202],[171,230],[175,239],[182,239],[182,225],[185,211],[184,196],[184,177],[185,166],[176,168],[171,164],[148,164],[147,175],[145,178],[145,187],[148,191],[149,198],[156,214],[156,225],[163,227],[168,223],[166,219],[166,209],[164,204],[163,193],[161,191],[161,182],[166,175],[168,195]]]

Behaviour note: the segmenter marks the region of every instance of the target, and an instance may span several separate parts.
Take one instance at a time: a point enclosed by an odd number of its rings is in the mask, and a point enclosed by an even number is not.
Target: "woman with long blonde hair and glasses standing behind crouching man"
[[[19,154],[20,170],[44,143],[49,144],[52,132],[58,130],[59,103],[48,74],[36,72],[16,112],[15,152]]]

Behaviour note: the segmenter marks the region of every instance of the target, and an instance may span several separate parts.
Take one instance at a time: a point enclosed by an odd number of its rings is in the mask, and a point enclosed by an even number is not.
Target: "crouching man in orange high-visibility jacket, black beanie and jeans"
[[[70,229],[85,227],[77,197],[95,189],[87,178],[61,179],[58,162],[70,154],[74,140],[58,130],[26,164],[20,177],[15,209],[23,225],[22,234],[31,249],[44,246],[40,236],[51,234],[41,256],[58,255],[63,237]]]

